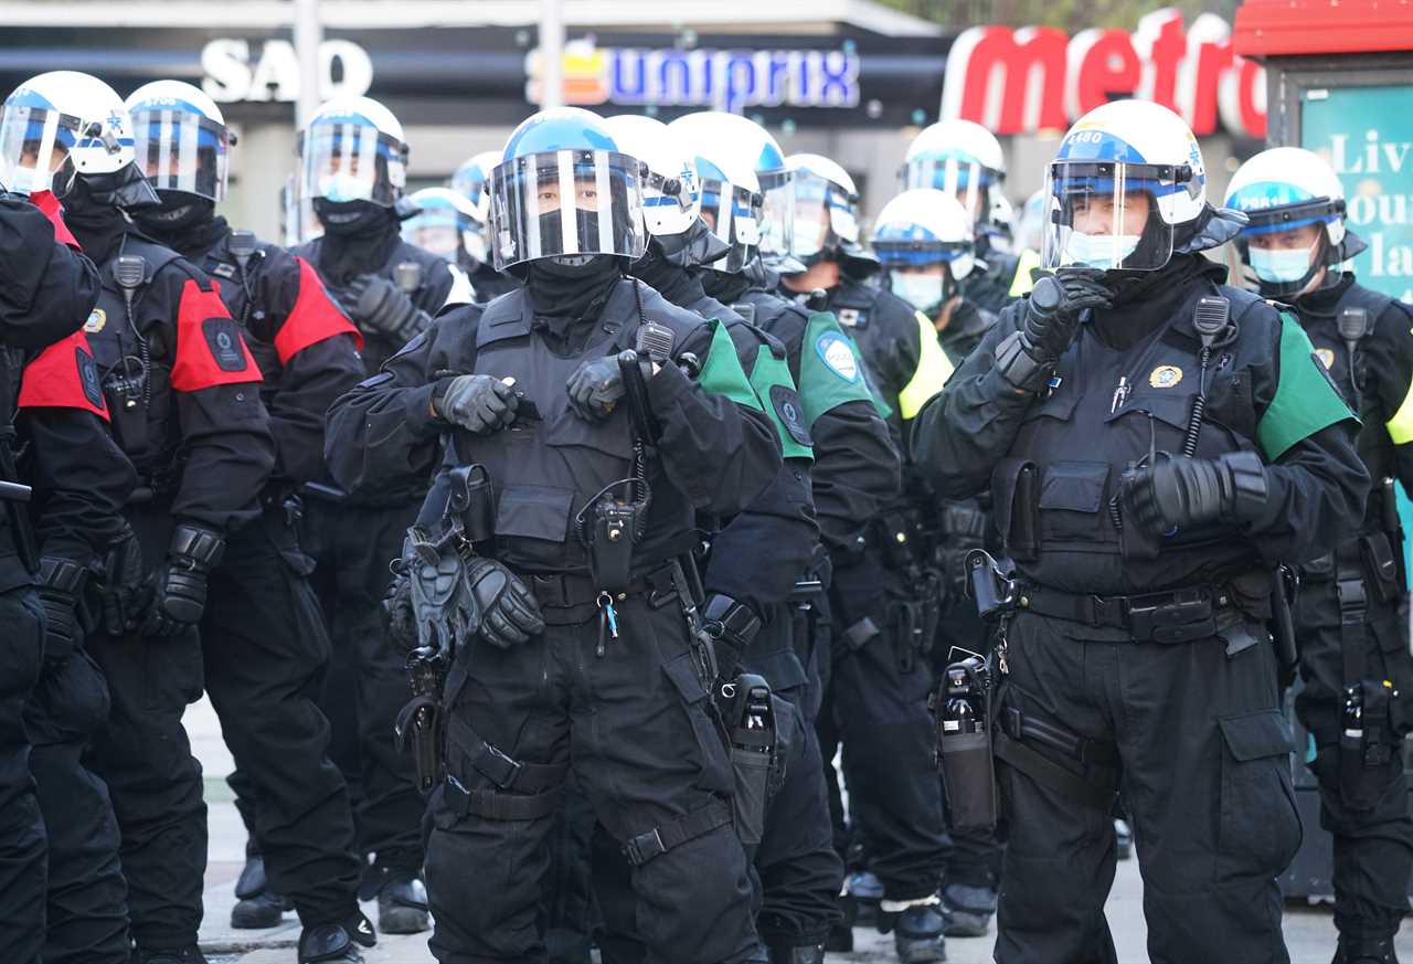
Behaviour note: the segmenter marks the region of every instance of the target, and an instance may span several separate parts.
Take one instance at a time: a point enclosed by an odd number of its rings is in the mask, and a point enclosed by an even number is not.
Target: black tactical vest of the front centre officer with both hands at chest
[[[588,343],[569,355],[557,355],[534,329],[523,291],[497,298],[480,317],[475,372],[514,377],[516,389],[538,414],[530,417],[521,403],[510,428],[486,437],[456,433],[455,438],[458,461],[479,464],[490,476],[496,499],[495,556],[512,568],[586,575],[588,561],[575,519],[605,488],[613,486],[623,498],[626,486],[616,483],[633,475],[627,401],[620,400],[608,420],[589,421],[569,408],[564,386],[584,359],[633,346],[639,328],[634,284],[629,278],[617,283],[593,322]],[[668,305],[646,286],[639,286],[639,297],[646,318],[673,329],[674,356],[694,331],[708,324]],[[650,466],[649,482],[653,502],[647,534],[633,554],[636,575],[691,551],[697,541],[692,507],[660,466]]]

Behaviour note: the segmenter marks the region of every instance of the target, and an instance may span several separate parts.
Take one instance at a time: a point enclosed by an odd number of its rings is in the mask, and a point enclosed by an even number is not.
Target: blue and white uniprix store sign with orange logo
[[[526,55],[526,99],[540,103],[540,51]],[[859,57],[828,49],[675,49],[564,45],[564,102],[581,106],[856,107]]]

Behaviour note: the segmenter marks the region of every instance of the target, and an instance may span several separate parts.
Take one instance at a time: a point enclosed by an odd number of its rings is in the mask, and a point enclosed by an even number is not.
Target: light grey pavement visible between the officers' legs
[[[225,776],[230,772],[230,753],[220,739],[220,725],[206,701],[187,712],[187,728],[192,749],[206,775],[206,803],[211,821],[211,854],[206,865],[206,917],[201,929],[202,948],[211,964],[294,964],[300,924],[294,913],[287,913],[280,927],[271,930],[232,930],[232,889],[244,862],[244,828],[232,804]],[[374,905],[363,910],[376,923]],[[1137,861],[1119,864],[1113,890],[1105,907],[1119,964],[1147,964],[1143,926],[1143,883]],[[1286,944],[1291,964],[1328,964],[1334,954],[1335,930],[1328,906],[1286,906]],[[992,960],[989,937],[952,939],[947,941],[950,964],[986,964]],[[852,954],[829,954],[831,964],[893,964],[893,939],[872,929],[855,929]],[[1413,960],[1413,933],[1403,931],[1397,940],[1403,960]],[[365,951],[366,964],[434,964],[427,950],[427,934],[380,936],[377,947]],[[1234,963],[1236,964],[1236,963]]]

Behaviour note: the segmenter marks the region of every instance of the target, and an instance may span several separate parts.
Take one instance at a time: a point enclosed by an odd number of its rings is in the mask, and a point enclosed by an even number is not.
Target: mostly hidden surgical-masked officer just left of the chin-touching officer
[[[870,247],[883,264],[889,290],[933,319],[942,351],[961,365],[996,322],[964,294],[976,257],[972,221],[961,202],[934,188],[904,191],[879,212]],[[933,546],[944,594],[941,632],[933,647],[938,678],[959,654],[988,649],[986,628],[965,594],[964,564],[971,550],[983,546],[988,509],[985,498],[938,500]],[[981,937],[996,913],[1000,847],[991,833],[958,828],[951,820],[948,828],[952,850],[941,889],[945,933]]]

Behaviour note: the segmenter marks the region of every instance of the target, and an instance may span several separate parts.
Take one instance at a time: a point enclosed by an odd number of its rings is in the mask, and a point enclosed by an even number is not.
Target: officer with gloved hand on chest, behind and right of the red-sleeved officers
[[[407,143],[403,126],[367,98],[329,100],[300,141],[301,194],[314,205],[324,235],[294,249],[315,267],[363,334],[367,373],[415,338],[454,287],[451,266],[400,237]],[[380,604],[387,560],[401,554],[403,536],[425,493],[424,479],[348,498],[326,485],[305,485],[304,550],[317,560],[315,592],[333,642],[324,710],[335,727],[336,755],[362,779],[355,799],[357,845],[373,861],[365,899],[377,896],[379,929],[404,934],[427,930],[418,830],[422,800],[411,760],[393,745],[393,721],[407,698],[403,660],[387,645]],[[357,739],[341,739],[356,728]],[[346,759],[352,756],[353,759]],[[353,783],[353,780],[350,780]]]

